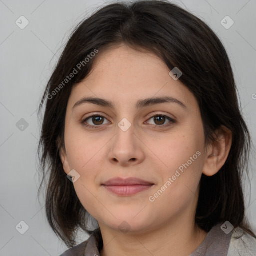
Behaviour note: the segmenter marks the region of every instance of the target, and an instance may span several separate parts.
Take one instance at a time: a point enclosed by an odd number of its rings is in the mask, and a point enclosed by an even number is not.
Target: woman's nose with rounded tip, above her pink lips
[[[133,125],[126,131],[117,126],[116,134],[111,140],[108,159],[120,166],[136,165],[145,158],[144,147],[139,135],[134,133]]]

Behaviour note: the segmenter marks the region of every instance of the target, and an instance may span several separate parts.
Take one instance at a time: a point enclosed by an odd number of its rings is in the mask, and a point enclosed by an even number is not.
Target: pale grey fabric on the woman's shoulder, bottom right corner
[[[256,238],[240,227],[233,230],[227,256],[255,256]]]

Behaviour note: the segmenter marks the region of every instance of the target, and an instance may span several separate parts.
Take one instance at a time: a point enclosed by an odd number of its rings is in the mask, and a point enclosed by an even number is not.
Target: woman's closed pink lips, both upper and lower
[[[139,178],[112,178],[102,183],[108,191],[117,195],[128,196],[152,187],[154,183]]]

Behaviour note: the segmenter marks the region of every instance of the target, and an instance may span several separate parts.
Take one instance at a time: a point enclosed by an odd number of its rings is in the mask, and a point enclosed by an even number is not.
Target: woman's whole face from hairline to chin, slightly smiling
[[[79,174],[79,200],[114,229],[191,219],[205,164],[195,97],[152,53],[121,45],[98,54],[92,72],[73,87],[65,117],[61,159],[67,174]],[[124,183],[107,182],[113,178]]]

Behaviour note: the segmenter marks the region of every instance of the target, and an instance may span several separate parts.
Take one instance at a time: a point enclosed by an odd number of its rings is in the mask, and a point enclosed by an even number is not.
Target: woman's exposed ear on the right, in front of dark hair
[[[224,165],[232,144],[232,132],[221,125],[215,132],[215,141],[206,149],[206,157],[202,173],[206,176],[216,174]]]

